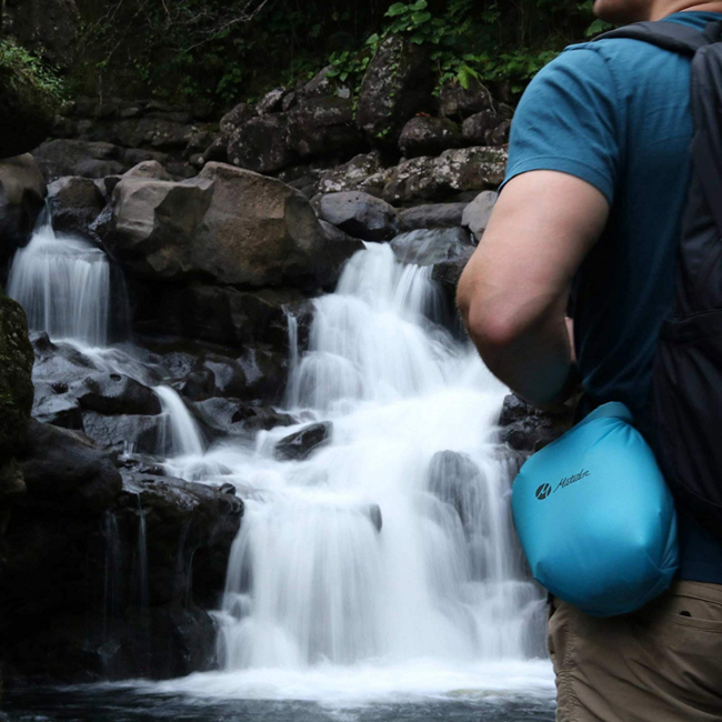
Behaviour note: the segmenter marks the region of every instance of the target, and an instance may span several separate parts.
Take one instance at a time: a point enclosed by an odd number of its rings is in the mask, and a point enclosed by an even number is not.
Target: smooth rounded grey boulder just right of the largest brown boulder
[[[319,215],[364,241],[389,241],[399,232],[397,210],[360,191],[329,193],[319,201]]]

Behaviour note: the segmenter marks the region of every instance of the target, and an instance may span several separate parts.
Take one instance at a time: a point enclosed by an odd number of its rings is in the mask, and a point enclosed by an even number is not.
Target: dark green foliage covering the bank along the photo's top
[[[513,96],[565,44],[606,27],[593,21],[592,0],[99,0],[94,6],[78,82],[92,82],[97,92],[141,87],[169,99],[222,106],[293,86],[324,64],[331,66],[330,78],[358,90],[391,36],[429,47],[442,82],[468,87],[479,79],[503,84]],[[243,18],[240,11],[249,8],[253,12]]]

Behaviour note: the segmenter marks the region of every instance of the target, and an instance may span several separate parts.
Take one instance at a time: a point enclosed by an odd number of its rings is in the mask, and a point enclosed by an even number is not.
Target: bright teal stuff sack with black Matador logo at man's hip
[[[512,491],[534,579],[594,616],[632,612],[669,588],[676,513],[623,403],[606,403],[531,457]]]

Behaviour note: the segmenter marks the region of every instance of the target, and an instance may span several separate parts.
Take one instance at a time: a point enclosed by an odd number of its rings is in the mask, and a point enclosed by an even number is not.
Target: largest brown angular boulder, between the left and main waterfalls
[[[251,287],[332,285],[359,249],[330,241],[298,191],[222,163],[178,183],[121,180],[103,242],[138,278]]]

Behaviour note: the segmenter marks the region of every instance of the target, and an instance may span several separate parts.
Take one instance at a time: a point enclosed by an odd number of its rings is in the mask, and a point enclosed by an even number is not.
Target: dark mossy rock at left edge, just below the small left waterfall
[[[24,311],[0,293],[0,463],[24,444],[32,410],[33,359]]]

